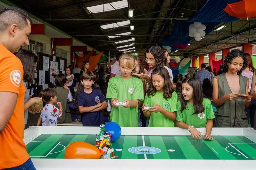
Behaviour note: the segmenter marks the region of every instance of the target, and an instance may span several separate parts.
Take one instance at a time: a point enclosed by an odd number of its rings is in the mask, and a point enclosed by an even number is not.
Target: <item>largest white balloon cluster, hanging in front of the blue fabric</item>
[[[189,25],[189,33],[188,35],[190,37],[194,37],[195,41],[200,41],[202,37],[205,36],[205,30],[206,26],[201,24],[201,22],[194,22],[193,24]]]

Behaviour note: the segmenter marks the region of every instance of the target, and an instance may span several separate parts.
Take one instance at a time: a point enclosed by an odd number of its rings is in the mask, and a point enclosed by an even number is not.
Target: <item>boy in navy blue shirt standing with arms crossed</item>
[[[104,124],[103,109],[107,102],[100,89],[92,88],[96,78],[93,72],[85,71],[81,77],[84,90],[78,93],[77,107],[82,113],[83,126],[100,126]]]

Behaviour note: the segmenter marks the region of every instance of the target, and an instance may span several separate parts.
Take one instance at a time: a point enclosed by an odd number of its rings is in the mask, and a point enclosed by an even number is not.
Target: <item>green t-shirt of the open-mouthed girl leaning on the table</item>
[[[184,122],[187,125],[193,125],[195,128],[205,128],[208,119],[214,119],[214,113],[211,107],[211,100],[203,98],[204,111],[199,114],[192,115],[194,113],[194,106],[187,102],[186,109],[180,112],[181,104],[180,100],[177,103],[177,121]]]

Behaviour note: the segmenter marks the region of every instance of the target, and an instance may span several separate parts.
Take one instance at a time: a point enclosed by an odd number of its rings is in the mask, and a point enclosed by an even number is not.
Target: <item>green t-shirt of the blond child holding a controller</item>
[[[140,79],[132,76],[129,80],[124,80],[117,76],[109,80],[106,99],[114,98],[119,102],[137,99],[140,102],[144,100],[143,91],[143,83]],[[110,121],[122,127],[137,127],[138,106],[136,108],[111,107]]]

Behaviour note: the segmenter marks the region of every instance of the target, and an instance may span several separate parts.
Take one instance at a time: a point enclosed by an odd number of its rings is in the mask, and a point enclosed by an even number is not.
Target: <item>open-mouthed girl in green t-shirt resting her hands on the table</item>
[[[198,78],[189,77],[182,81],[183,97],[177,103],[177,126],[188,129],[193,139],[213,140],[211,129],[214,113],[211,100],[203,98],[202,85]],[[202,137],[195,128],[206,127],[206,133]]]

